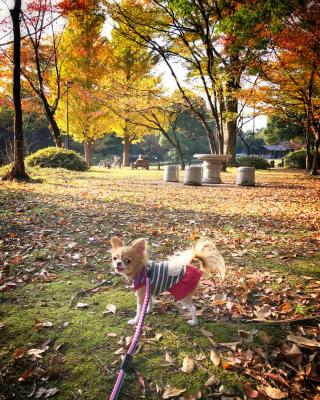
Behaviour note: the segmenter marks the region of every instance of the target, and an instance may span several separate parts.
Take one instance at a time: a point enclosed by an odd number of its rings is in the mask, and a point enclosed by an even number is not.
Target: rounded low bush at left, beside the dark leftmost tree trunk
[[[72,171],[86,171],[87,163],[79,153],[59,147],[47,147],[38,150],[25,159],[29,167],[65,168]]]

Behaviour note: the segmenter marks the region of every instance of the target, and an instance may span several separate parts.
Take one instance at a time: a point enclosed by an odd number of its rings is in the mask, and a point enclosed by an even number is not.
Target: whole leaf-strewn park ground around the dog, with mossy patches
[[[228,266],[202,281],[198,327],[159,297],[120,399],[318,400],[320,181],[272,170],[237,187],[235,173],[211,187],[98,168],[1,183],[0,399],[108,398],[134,333],[134,296],[110,270],[119,235],[157,260],[209,236]]]

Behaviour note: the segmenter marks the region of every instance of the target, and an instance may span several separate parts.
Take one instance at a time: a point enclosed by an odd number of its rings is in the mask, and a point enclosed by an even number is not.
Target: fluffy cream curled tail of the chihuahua
[[[215,243],[209,238],[199,239],[192,247],[193,258],[201,263],[205,274],[217,272],[223,281],[226,276],[226,265]]]

